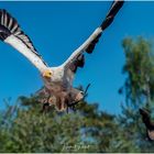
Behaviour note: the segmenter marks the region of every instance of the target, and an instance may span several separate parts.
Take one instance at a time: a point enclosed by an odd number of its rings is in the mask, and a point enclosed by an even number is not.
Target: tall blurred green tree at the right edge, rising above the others
[[[139,113],[139,108],[152,111],[154,105],[154,51],[152,42],[143,37],[136,40],[128,37],[123,40],[122,46],[125,54],[123,73],[127,74],[127,79],[119,90],[125,96],[122,114],[118,118],[118,122],[124,131],[120,135],[123,134],[121,139],[128,141],[125,150],[129,148],[129,152],[154,152],[153,144],[146,140],[145,128]]]

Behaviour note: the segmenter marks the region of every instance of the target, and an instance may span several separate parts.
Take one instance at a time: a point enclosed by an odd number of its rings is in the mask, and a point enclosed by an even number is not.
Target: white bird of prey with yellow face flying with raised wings
[[[50,67],[22,31],[18,21],[4,9],[0,9],[0,40],[25,56],[40,72],[44,82],[38,90],[43,105],[55,106],[58,111],[85,98],[84,90],[73,87],[75,74],[85,65],[85,53],[91,54],[102,32],[112,23],[123,1],[113,1],[109,13],[94,33],[61,66]]]

